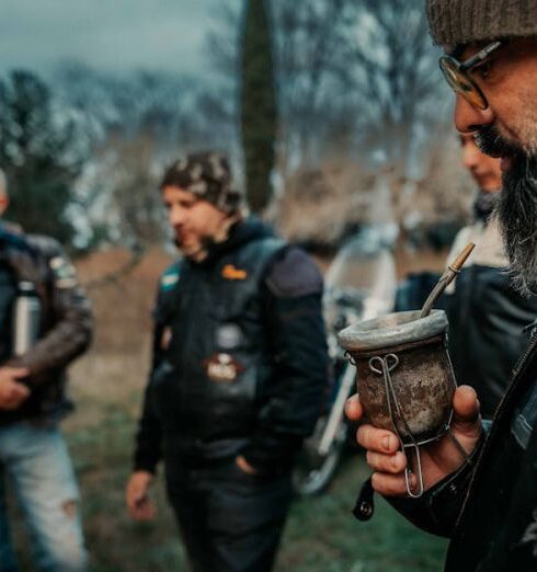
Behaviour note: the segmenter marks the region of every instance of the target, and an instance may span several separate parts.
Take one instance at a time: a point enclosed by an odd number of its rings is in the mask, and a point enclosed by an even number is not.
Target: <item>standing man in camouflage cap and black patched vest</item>
[[[148,489],[162,459],[193,569],[264,572],[329,376],[322,277],[243,216],[231,184],[212,152],[178,161],[161,183],[183,258],[160,281],[126,503],[134,518],[153,517]]]

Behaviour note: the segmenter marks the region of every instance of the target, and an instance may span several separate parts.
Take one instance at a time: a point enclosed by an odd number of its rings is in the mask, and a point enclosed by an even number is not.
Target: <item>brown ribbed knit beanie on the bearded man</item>
[[[537,0],[426,0],[431,35],[444,47],[537,36]]]

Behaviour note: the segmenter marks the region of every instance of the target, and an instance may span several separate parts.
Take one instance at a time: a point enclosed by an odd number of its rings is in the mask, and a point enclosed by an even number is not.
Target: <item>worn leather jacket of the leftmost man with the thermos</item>
[[[1,365],[26,367],[30,398],[15,411],[0,411],[0,425],[21,420],[57,421],[72,405],[66,397],[66,366],[90,344],[91,308],[58,242],[0,225],[0,261],[14,283],[31,282],[41,302],[39,339],[22,356]]]

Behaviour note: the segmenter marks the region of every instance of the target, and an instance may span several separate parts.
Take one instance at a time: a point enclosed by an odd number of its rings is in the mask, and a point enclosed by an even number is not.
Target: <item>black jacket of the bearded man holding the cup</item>
[[[471,466],[419,501],[388,500],[421,528],[452,538],[447,572],[537,570],[537,338]]]

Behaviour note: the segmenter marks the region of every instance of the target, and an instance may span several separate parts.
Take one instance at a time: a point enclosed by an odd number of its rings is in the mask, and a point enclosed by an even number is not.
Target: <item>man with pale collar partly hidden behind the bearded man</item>
[[[449,355],[458,384],[479,394],[481,415],[492,415],[526,347],[526,327],[537,317],[537,297],[521,294],[505,272],[509,265],[494,205],[502,187],[500,159],[484,155],[470,134],[460,134],[462,164],[478,184],[473,224],[457,234],[447,260],[473,242],[476,249],[446,289],[441,307],[449,320]]]

